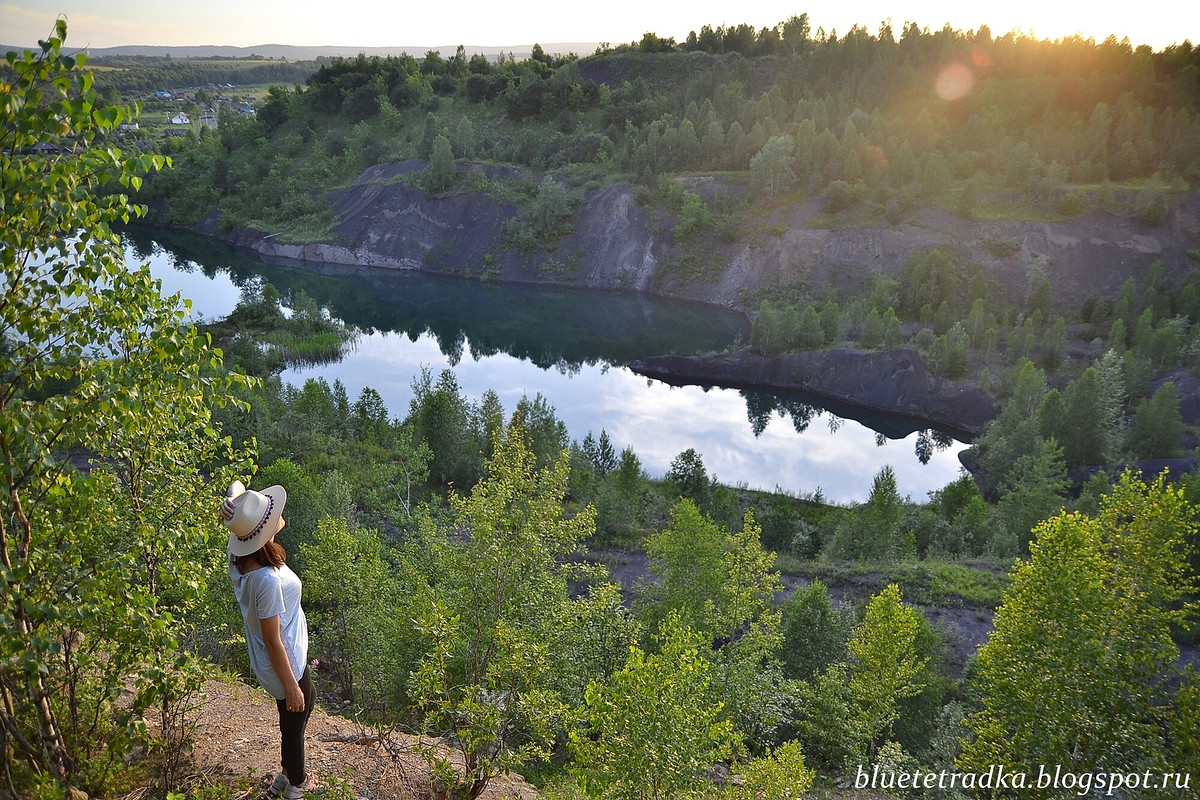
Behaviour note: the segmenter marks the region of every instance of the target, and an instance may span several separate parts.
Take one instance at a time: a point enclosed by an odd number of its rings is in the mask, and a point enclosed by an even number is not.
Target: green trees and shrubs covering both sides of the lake
[[[319,237],[314,187],[408,157],[427,160],[413,180],[430,192],[474,186],[460,160],[536,174],[484,187],[516,206],[516,248],[557,237],[571,222],[550,210],[613,180],[714,240],[802,197],[859,223],[942,203],[1109,205],[1152,224],[1198,179],[1190,46],[839,38],[798,17],[586,59],[335,60],[272,88],[257,118],[160,152],[118,149],[127,112],[65,37],[60,23],[5,67],[0,796],[233,796],[184,753],[203,679],[248,674],[216,516],[235,477],[288,487],[281,540],[322,691],[455,751],[422,753],[430,796],[474,798],[509,771],[558,800],[856,796],[864,769],[997,764],[1194,792],[1200,679],[1181,654],[1196,644],[1200,477],[1134,469],[1195,446],[1160,380],[1198,366],[1193,272],[1159,264],[1069,308],[1033,270],[997,303],[1003,288],[932,252],[862,297],[752,299],[762,353],[912,343],[1002,398],[976,476],[917,503],[884,469],[839,506],[719,485],[695,451],[652,479],[605,431],[570,440],[545,398],[505,414],[449,371],[414,375],[408,409],[286,385],[287,363],[336,357],[354,332],[270,285],[194,326],[113,234],[151,209],[180,224],[217,209],[227,229]],[[984,89],[918,92],[947,61]],[[70,152],[24,155],[67,137]],[[755,192],[662,180],[688,170]],[[632,549],[649,575],[625,587],[608,559]],[[802,578],[786,593],[785,575]],[[922,608],[971,609],[992,632],[955,663]]]

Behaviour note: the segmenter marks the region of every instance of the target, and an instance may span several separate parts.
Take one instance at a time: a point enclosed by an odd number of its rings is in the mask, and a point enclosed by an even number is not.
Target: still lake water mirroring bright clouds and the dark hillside
[[[371,386],[392,416],[408,413],[422,367],[434,377],[451,368],[470,401],[492,389],[510,413],[523,395],[540,392],[572,439],[605,429],[614,447],[631,446],[655,476],[689,447],[725,483],[797,494],[820,489],[840,503],[865,499],[884,464],[895,470],[900,493],[917,501],[959,475],[965,445],[940,437],[923,464],[918,423],[845,408],[835,414],[812,398],[674,387],[624,366],[745,339],[745,320],[719,308],[625,293],[265,263],[200,236],[142,227],[125,231],[125,246],[128,261],[149,261],[163,291],[190,299],[197,318],[228,314],[244,288],[268,282],[284,305],[300,291],[313,297],[361,333],[341,361],[289,369],[283,380],[338,379],[350,399]]]

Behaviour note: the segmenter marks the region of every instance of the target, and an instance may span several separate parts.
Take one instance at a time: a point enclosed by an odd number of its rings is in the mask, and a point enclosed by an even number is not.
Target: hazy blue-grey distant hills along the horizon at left
[[[542,44],[541,48],[551,55],[566,55],[568,53],[575,53],[576,55],[592,55],[592,53],[595,52],[596,46],[596,42],[547,42]],[[0,53],[28,49],[36,49],[36,47],[29,44],[0,46]],[[158,44],[122,44],[120,47],[82,47],[72,52],[88,52],[94,58],[106,55],[146,55],[163,58],[169,55],[173,59],[208,59],[214,56],[246,59],[251,55],[262,55],[269,59],[287,59],[288,61],[312,61],[320,56],[355,56],[359,53],[378,56],[408,53],[410,55],[419,56],[425,55],[430,50],[437,50],[442,55],[449,56],[454,55],[457,49],[457,44],[443,44],[438,47],[418,47],[415,44],[404,47],[304,47],[296,44],[256,44],[253,47],[197,44],[188,47],[163,47]],[[512,44],[506,47],[464,46],[464,49],[467,50],[467,55],[482,53],[484,55],[494,56],[500,53],[511,53],[517,59],[524,59],[528,58],[529,53],[533,50],[533,44]]]

